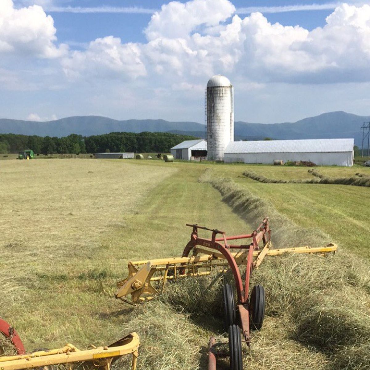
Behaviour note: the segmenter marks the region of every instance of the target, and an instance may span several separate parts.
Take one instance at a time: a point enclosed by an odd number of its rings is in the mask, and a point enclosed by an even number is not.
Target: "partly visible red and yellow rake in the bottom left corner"
[[[5,346],[4,346],[5,343]],[[12,356],[4,356],[4,347],[10,347]],[[16,332],[6,321],[0,319],[0,369],[81,369],[81,370],[110,370],[112,363],[125,354],[132,354],[131,370],[136,369],[139,337],[137,333],[117,340],[106,347],[79,350],[73,344],[52,350],[37,350],[26,353],[23,343]],[[55,365],[55,366],[53,366]]]

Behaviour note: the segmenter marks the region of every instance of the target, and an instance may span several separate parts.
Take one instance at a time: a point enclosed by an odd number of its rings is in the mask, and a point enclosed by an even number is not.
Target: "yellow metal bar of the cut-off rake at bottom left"
[[[72,370],[75,362],[86,362],[86,367],[84,366],[83,369],[110,370],[110,364],[116,360],[115,357],[125,354],[132,354],[131,370],[136,370],[139,344],[138,334],[131,333],[114,343],[112,347],[98,347],[81,351],[73,344],[66,344],[63,348],[53,350],[17,356],[1,356],[0,370],[33,369],[59,364],[67,364],[66,370]]]

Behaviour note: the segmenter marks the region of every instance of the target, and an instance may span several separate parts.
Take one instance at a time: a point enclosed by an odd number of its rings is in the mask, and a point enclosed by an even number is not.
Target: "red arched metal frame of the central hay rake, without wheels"
[[[244,339],[249,345],[250,336],[249,336],[249,279],[253,269],[253,251],[259,250],[258,243],[263,241],[263,246],[266,245],[271,239],[271,231],[269,228],[269,219],[265,218],[263,222],[258,226],[258,228],[250,234],[245,235],[234,235],[234,236],[226,236],[224,231],[219,231],[217,229],[208,229],[198,225],[189,225],[191,226],[193,231],[191,233],[191,239],[186,245],[184,252],[182,253],[182,257],[188,257],[191,250],[197,246],[201,245],[206,248],[217,250],[218,252],[222,253],[225,259],[228,261],[229,266],[232,270],[235,286],[236,286],[236,293],[238,296],[238,311],[240,317],[240,323],[242,326],[242,332]],[[212,231],[212,238],[205,239],[198,237],[198,229]],[[222,234],[222,238],[216,238],[217,234]],[[228,244],[228,240],[237,240],[237,239],[252,239],[252,241],[248,245],[233,245]],[[220,243],[223,242],[223,243]],[[248,259],[246,264],[246,273],[245,273],[245,286],[243,287],[242,277],[240,276],[240,271],[238,265],[232,256],[230,250],[231,249],[248,249]],[[185,272],[184,272],[185,273]]]

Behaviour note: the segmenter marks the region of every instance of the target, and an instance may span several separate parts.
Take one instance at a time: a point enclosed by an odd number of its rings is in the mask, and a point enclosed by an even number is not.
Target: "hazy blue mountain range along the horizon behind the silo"
[[[363,122],[370,116],[359,116],[346,112],[329,112],[297,122],[274,124],[235,122],[235,140],[273,139],[324,139],[354,138],[361,145]],[[24,134],[39,136],[84,136],[106,134],[108,132],[172,132],[205,138],[206,127],[197,122],[170,122],[165,120],[126,120],[118,121],[100,116],[76,116],[49,122],[34,122],[0,119],[1,134]]]

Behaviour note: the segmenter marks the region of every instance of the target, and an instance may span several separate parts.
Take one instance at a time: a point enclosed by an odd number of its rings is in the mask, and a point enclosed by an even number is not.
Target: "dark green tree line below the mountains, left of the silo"
[[[169,152],[184,140],[196,139],[190,135],[169,132],[111,132],[110,134],[65,137],[0,134],[0,154],[17,153],[31,149],[36,154],[80,154],[101,152]]]

